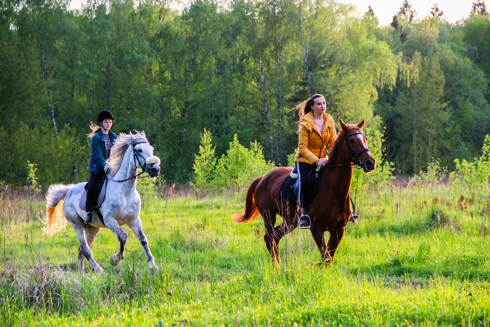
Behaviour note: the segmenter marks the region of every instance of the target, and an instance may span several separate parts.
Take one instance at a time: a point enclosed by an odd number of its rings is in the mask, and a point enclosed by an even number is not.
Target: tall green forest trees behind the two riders
[[[206,138],[218,156],[250,142],[262,152],[257,141],[266,160],[288,165],[291,108],[315,93],[336,122],[367,118],[395,175],[432,158],[453,170],[490,133],[481,0],[455,24],[436,4],[416,13],[404,1],[387,26],[370,7],[359,15],[327,0],[68,4],[0,2],[0,181],[13,186],[34,169],[43,188],[86,180],[100,110],[115,115],[116,133],[145,130],[165,179],[179,183],[196,182]]]

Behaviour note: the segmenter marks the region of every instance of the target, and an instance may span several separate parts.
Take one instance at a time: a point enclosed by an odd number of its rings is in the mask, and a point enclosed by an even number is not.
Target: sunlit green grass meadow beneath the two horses
[[[77,274],[71,226],[41,233],[42,198],[4,195],[0,326],[490,326],[490,238],[460,195],[444,185],[373,192],[324,268],[311,264],[320,255],[306,230],[281,241],[274,266],[262,220],[231,220],[243,194],[161,199],[142,214],[160,270],[147,271],[127,227],[112,268],[118,242],[103,229],[92,246],[102,276]]]

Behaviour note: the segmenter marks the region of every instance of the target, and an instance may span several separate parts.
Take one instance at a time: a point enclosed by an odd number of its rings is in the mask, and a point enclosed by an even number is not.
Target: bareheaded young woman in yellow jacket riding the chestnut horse
[[[299,103],[296,107],[299,112],[298,150],[294,161],[299,178],[299,228],[310,228],[311,220],[306,213],[306,196],[308,187],[308,172],[315,166],[325,166],[327,153],[337,140],[334,120],[325,113],[325,98],[315,94],[310,99]],[[326,146],[328,145],[328,152]]]

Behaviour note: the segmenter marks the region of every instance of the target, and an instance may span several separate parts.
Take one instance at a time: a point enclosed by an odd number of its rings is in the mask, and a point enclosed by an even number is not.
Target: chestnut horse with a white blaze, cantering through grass
[[[320,250],[322,262],[332,262],[351,215],[349,191],[353,166],[368,173],[374,170],[376,162],[367,147],[368,138],[361,130],[364,119],[358,125],[339,121],[342,130],[326,166],[322,168],[318,193],[308,207],[311,234]],[[280,260],[279,241],[298,226],[297,203],[281,203],[279,200],[281,185],[292,169],[278,167],[256,178],[248,188],[243,214],[234,217],[235,222],[243,224],[254,220],[259,213],[262,215],[266,229],[264,241],[272,259],[277,262]],[[283,222],[274,227],[277,214]],[[330,232],[328,245],[324,236],[327,230]]]

